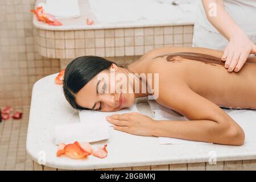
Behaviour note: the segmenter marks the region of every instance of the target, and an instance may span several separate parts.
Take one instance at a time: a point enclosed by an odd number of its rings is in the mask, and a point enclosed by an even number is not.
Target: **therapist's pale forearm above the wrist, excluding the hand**
[[[239,32],[243,32],[243,30],[226,12],[222,0],[202,0],[202,2],[207,19],[226,39],[230,41],[232,36],[238,34]],[[209,14],[209,12],[214,10],[214,8],[212,6],[209,7],[209,5],[216,6],[216,16]]]

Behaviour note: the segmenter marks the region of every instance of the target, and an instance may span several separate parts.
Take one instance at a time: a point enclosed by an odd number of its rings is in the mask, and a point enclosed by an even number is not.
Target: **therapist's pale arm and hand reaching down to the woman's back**
[[[225,68],[228,68],[229,72],[240,71],[250,53],[256,53],[255,44],[229,16],[222,0],[202,0],[202,2],[209,22],[229,40],[229,45],[222,55],[222,60],[226,61]]]

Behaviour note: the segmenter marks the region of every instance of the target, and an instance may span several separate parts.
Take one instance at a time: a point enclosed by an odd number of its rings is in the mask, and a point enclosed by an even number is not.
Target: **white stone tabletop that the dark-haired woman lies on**
[[[209,152],[215,151],[217,161],[256,159],[256,143],[243,146],[218,144],[160,145],[157,137],[141,137],[110,130],[110,139],[97,142],[108,144],[108,156],[99,159],[69,159],[57,157],[53,129],[64,123],[79,122],[78,111],[72,109],[54,83],[56,74],[38,80],[32,90],[30,118],[27,130],[27,153],[38,161],[40,151],[46,154],[46,166],[61,169],[94,169],[158,164],[208,162]]]

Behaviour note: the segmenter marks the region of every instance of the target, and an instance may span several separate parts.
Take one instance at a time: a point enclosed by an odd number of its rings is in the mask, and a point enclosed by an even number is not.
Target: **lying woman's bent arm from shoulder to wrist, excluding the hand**
[[[242,128],[220,107],[193,92],[187,85],[175,84],[172,89],[163,88],[159,93],[159,104],[178,111],[190,121],[154,122],[154,136],[243,144],[245,134]]]

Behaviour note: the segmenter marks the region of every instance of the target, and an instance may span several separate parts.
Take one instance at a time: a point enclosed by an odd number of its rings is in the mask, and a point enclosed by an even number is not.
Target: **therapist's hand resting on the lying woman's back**
[[[255,44],[244,32],[237,32],[236,35],[230,37],[222,61],[225,61],[225,68],[228,69],[228,72],[239,72],[251,53],[256,53]]]

